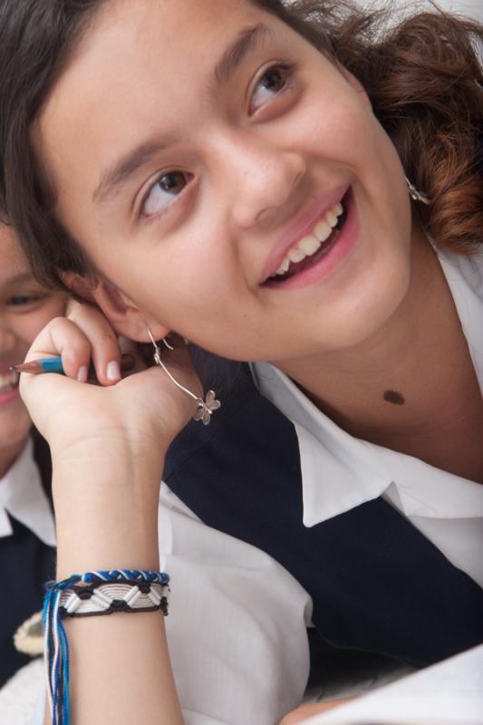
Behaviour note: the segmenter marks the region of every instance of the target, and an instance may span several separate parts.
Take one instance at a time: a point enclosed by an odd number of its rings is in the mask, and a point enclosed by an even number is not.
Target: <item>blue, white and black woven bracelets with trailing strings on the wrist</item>
[[[114,612],[168,614],[169,575],[140,569],[73,574],[48,582],[43,602],[43,632],[47,690],[52,725],[69,725],[69,643],[65,616],[94,616]]]

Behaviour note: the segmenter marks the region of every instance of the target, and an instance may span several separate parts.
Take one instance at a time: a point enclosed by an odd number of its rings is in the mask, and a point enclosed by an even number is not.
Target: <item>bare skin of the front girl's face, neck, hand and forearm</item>
[[[220,58],[258,24],[263,42],[213,91]],[[286,73],[276,92],[260,83],[274,63]],[[400,160],[362,88],[284,24],[245,0],[111,0],[34,140],[57,214],[98,272],[93,285],[66,282],[105,315],[83,305],[48,325],[29,357],[62,353],[67,376],[22,382],[53,450],[59,578],[159,565],[163,452],[194,407],[159,369],[108,378],[115,333],[147,341],[146,324],[156,338],[174,330],[228,358],[275,362],[346,430],[483,478],[478,382],[438,260],[411,227]],[[142,163],[101,200],[140,143]],[[295,242],[307,208],[349,186],[352,251],[312,285],[264,285],[281,238]],[[76,380],[91,355],[102,387]],[[199,391],[186,352],[165,360]],[[407,403],[388,405],[385,390]],[[73,721],[132,722],[142,705],[145,722],[178,725],[163,623],[99,619],[68,623]]]

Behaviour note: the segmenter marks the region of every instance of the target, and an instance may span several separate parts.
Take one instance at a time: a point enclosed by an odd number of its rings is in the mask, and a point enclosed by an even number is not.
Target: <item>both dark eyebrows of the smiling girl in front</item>
[[[225,85],[233,73],[246,58],[246,55],[253,53],[258,45],[271,35],[270,29],[263,23],[244,28],[235,41],[227,48],[215,66],[214,83],[209,87],[211,94]],[[174,142],[174,137],[167,137],[164,140],[143,141],[134,150],[116,161],[113,166],[106,169],[101,175],[101,181],[95,189],[92,200],[101,204],[110,198],[123,184],[125,184],[140,168],[142,168],[154,154],[165,150]]]

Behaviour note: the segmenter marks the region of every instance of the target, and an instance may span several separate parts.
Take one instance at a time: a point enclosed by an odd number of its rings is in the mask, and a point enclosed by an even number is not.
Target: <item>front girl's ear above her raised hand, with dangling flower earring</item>
[[[150,328],[155,340],[161,340],[169,334],[169,328],[159,324],[150,314],[142,312],[126,295],[110,282],[101,279],[89,279],[68,272],[63,282],[74,295],[97,305],[109,320],[113,330],[137,343],[149,343]]]

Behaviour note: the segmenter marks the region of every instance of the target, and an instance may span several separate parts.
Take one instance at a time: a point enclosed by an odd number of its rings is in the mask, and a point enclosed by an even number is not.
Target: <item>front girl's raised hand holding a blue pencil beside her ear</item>
[[[157,456],[196,411],[196,403],[179,391],[158,366],[146,368],[137,355],[135,374],[120,379],[120,343],[111,325],[91,304],[71,304],[69,318],[56,318],[38,335],[26,360],[62,355],[65,376],[28,375],[21,394],[35,426],[53,455],[79,456],[92,446],[112,453],[129,450]],[[130,349],[130,352],[136,348]],[[201,385],[180,344],[162,351],[163,362],[177,380],[197,395]],[[85,381],[92,359],[100,384]],[[74,452],[75,451],[75,452]]]

